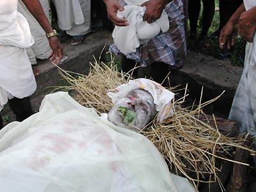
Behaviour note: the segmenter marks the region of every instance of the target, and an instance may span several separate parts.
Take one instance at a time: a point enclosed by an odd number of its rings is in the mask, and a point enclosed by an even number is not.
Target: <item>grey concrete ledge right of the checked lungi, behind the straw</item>
[[[227,117],[242,72],[243,68],[234,67],[229,61],[189,51],[184,67],[170,76],[173,86],[180,84],[185,87],[188,83],[189,95],[193,99],[200,99],[204,86],[203,102],[217,97],[225,90],[220,99],[214,102],[212,110]]]

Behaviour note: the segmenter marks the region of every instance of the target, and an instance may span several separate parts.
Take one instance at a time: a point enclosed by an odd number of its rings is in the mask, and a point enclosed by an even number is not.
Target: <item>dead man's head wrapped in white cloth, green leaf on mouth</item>
[[[108,92],[115,106],[108,119],[120,127],[143,129],[157,113],[157,122],[173,116],[174,93],[150,79],[130,80]]]

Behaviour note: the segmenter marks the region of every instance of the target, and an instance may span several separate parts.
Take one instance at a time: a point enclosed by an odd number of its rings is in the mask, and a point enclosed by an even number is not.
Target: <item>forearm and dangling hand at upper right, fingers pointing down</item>
[[[236,24],[243,12],[245,12],[245,8],[244,4],[241,4],[236,12],[230,17],[227,24],[221,29],[219,40],[221,49],[224,48],[225,44],[227,44],[228,49],[235,44]]]

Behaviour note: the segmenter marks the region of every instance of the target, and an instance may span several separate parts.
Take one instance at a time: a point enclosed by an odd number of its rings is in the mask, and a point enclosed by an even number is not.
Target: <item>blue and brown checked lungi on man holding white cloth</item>
[[[121,0],[120,3],[124,5],[124,1]],[[136,52],[126,55],[128,59],[141,63],[141,67],[147,67],[153,62],[163,62],[176,69],[184,63],[186,37],[182,1],[173,0],[164,10],[168,14],[170,29],[141,45]],[[111,45],[109,51],[121,53],[115,44]]]

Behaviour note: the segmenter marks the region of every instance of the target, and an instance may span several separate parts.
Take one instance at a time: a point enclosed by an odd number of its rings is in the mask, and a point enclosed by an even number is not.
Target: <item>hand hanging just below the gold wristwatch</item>
[[[49,38],[49,45],[52,49],[52,53],[49,60],[56,64],[60,63],[62,58],[63,47],[60,41],[58,40],[57,36],[51,36]]]

